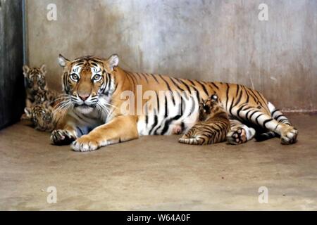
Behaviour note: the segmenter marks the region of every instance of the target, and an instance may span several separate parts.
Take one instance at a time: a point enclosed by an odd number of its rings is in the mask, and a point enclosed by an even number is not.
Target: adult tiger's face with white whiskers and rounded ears
[[[118,65],[117,55],[108,60],[87,56],[70,61],[63,56],[58,63],[63,67],[63,91],[67,94],[61,108],[74,108],[79,113],[101,110],[108,104],[114,90],[113,68]]]

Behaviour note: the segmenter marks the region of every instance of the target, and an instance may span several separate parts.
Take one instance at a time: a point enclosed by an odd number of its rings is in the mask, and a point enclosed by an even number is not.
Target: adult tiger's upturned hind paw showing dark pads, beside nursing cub
[[[251,140],[255,135],[255,130],[250,127],[238,127],[235,130],[230,130],[227,134],[227,141],[232,145],[238,145]]]

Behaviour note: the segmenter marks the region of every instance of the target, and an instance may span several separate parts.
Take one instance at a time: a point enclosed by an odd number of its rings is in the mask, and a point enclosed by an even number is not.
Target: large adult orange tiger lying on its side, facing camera
[[[58,105],[67,113],[51,134],[56,145],[72,143],[73,150],[89,151],[139,135],[173,134],[178,127],[187,131],[197,121],[199,102],[212,94],[235,119],[231,121],[230,143],[244,143],[254,136],[254,129],[244,123],[268,131],[264,137],[280,135],[285,144],[297,140],[298,131],[287,117],[258,91],[243,85],[132,73],[118,67],[117,55],[107,60],[87,56],[73,61],[60,55],[58,62],[68,96]],[[122,112],[127,91],[142,95],[141,104],[137,98],[133,100],[137,110],[142,108],[141,114]],[[149,91],[154,96],[144,96]],[[149,104],[150,98],[156,98],[155,105]]]

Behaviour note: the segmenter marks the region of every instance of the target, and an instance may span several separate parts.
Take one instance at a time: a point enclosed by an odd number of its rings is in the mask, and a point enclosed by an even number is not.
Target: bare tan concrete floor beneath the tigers
[[[299,141],[186,146],[144,136],[92,153],[0,131],[0,210],[317,210],[317,116],[294,115]],[[46,188],[57,203],[46,203]],[[268,203],[258,201],[260,186]]]

